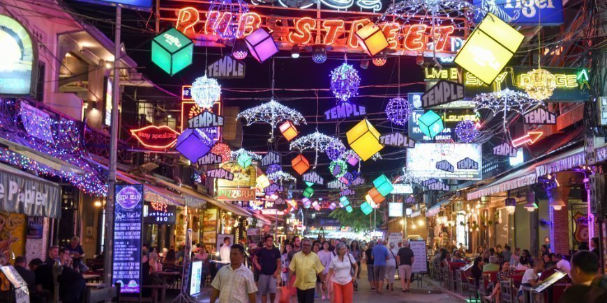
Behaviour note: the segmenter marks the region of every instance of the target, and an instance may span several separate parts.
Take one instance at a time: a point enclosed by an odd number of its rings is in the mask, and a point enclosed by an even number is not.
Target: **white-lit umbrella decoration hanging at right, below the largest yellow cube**
[[[533,107],[544,105],[544,102],[530,98],[527,93],[511,91],[509,88],[494,93],[481,93],[474,97],[474,99],[472,99],[472,102],[477,104],[476,107],[474,107],[474,111],[479,111],[480,109],[488,109],[493,112],[494,116],[500,111],[503,111],[504,131],[507,130],[506,115],[509,111],[514,111],[522,115],[523,113],[525,113],[525,111],[528,111]]]

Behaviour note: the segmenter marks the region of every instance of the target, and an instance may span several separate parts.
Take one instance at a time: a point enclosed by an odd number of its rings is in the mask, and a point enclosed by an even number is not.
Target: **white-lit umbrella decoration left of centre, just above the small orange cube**
[[[246,120],[246,126],[254,123],[267,123],[271,125],[272,132],[269,141],[273,141],[274,128],[278,123],[283,121],[292,121],[293,124],[299,125],[299,123],[306,124],[306,118],[299,111],[285,107],[283,104],[276,102],[276,100],[270,100],[270,102],[261,104],[250,109],[241,111],[236,118],[244,118]]]

